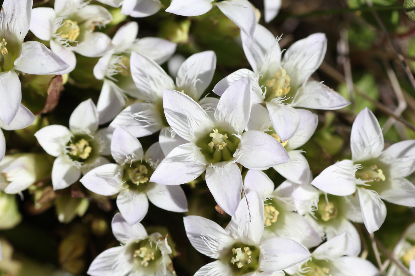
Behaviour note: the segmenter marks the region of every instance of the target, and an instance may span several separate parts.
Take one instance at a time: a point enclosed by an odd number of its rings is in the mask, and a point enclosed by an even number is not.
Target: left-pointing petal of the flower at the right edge
[[[352,160],[342,160],[324,169],[312,182],[312,185],[327,194],[348,196],[356,191],[354,166]]]

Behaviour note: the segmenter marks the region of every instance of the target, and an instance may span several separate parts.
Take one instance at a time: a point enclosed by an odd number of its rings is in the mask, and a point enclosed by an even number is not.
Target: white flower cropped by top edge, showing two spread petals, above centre
[[[252,36],[256,27],[256,15],[248,0],[224,0],[213,3],[213,0],[173,0],[166,12],[176,15],[197,16],[217,6],[224,15],[229,17],[245,34]]]

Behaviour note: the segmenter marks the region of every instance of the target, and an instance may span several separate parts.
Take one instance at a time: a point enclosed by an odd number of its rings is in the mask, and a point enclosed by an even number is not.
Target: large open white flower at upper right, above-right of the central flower
[[[322,82],[309,81],[322,63],[327,39],[325,34],[312,34],[291,45],[281,58],[279,38],[258,25],[254,38],[241,32],[242,46],[253,71],[240,69],[217,83],[213,92],[221,95],[241,77],[252,79],[252,103],[266,103],[276,134],[285,142],[293,137],[300,124],[296,107],[340,109],[350,102]],[[263,91],[264,90],[264,91]]]

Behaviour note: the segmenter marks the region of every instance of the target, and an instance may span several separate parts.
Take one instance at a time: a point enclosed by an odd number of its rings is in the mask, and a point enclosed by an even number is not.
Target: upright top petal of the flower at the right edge
[[[383,134],[375,115],[367,107],[353,122],[350,148],[354,162],[378,157],[383,150]]]

